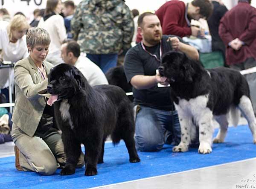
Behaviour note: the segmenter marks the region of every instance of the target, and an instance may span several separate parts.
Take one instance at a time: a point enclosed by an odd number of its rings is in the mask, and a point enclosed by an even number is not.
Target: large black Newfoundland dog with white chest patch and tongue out
[[[67,163],[61,175],[74,174],[85,147],[85,175],[97,174],[97,163],[103,163],[104,144],[111,135],[113,144],[124,140],[130,162],[140,162],[134,142],[134,114],[125,92],[113,85],[91,87],[74,66],[59,64],[49,74],[47,91],[52,95],[55,119],[62,131]]]

